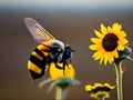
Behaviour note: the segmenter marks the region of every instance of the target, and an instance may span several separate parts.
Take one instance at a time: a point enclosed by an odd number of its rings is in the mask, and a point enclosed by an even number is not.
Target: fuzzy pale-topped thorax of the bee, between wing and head
[[[64,43],[59,40],[51,40],[49,46],[51,47],[51,59],[54,61],[61,61],[64,52]]]

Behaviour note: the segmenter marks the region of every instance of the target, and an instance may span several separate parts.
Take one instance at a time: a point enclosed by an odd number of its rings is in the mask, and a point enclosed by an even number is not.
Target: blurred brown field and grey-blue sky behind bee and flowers
[[[27,62],[38,46],[25,28],[23,19],[38,20],[57,39],[69,43],[75,50],[72,63],[80,86],[69,87],[66,99],[92,100],[84,86],[94,82],[115,84],[113,64],[99,64],[89,50],[90,38],[100,24],[119,22],[127,32],[133,47],[133,0],[0,0],[0,99],[54,99],[55,91],[47,93],[48,87],[39,89],[32,82]],[[133,57],[133,56],[132,56]],[[124,99],[133,99],[133,62],[124,61]],[[44,76],[47,79],[48,76]],[[116,99],[112,90],[110,99]]]

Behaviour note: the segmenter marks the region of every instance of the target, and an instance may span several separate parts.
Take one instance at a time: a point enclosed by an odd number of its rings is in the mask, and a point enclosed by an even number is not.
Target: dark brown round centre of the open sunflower
[[[117,47],[117,40],[114,33],[109,33],[103,38],[102,46],[105,51],[113,51]]]

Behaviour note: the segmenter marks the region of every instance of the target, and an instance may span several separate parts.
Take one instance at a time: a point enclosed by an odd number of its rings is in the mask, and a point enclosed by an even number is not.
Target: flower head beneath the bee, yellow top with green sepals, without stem
[[[60,68],[63,68],[63,63],[57,63]],[[49,68],[50,78],[43,80],[39,87],[43,87],[47,83],[51,83],[49,91],[52,90],[54,87],[66,88],[69,84],[75,86],[80,82],[74,79],[75,71],[74,67],[71,63],[65,64],[65,69],[59,69],[55,67],[55,63],[51,63]]]

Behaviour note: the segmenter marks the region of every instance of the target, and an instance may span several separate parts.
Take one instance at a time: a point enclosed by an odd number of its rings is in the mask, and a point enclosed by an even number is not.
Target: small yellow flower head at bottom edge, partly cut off
[[[109,98],[109,91],[115,87],[110,86],[109,83],[94,83],[94,86],[85,86],[85,91],[91,93],[91,97],[94,99],[98,98]]]

